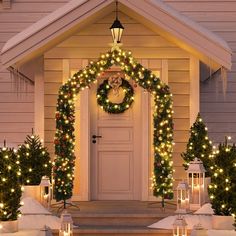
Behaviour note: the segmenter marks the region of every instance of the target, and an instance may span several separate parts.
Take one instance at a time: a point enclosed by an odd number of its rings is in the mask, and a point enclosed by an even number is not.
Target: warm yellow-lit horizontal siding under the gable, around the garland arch
[[[100,19],[71,36],[64,42],[45,53],[45,142],[53,153],[55,134],[55,109],[57,93],[62,84],[63,59],[68,59],[70,70],[81,66],[81,59],[94,59],[109,50],[111,35],[110,23],[114,13]],[[138,61],[146,59],[148,68],[158,71],[161,60],[168,60],[168,80],[174,99],[174,166],[175,177],[184,176],[180,153],[184,151],[189,129],[189,54],[150,31],[132,18],[119,14],[125,31],[122,38],[123,48],[130,50]],[[78,115],[77,115],[78,116]]]

